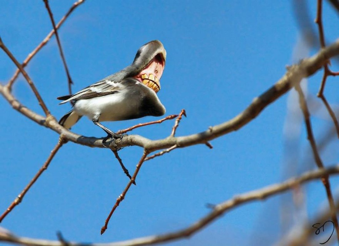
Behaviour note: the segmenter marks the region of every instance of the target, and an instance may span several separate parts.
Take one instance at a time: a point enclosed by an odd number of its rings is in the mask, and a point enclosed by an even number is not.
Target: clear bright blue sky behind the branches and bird
[[[158,39],[167,51],[161,78],[160,100],[166,114],[185,109],[177,135],[197,133],[229,120],[252,99],[271,87],[292,64],[315,50],[296,51],[300,40],[290,1],[86,1],[60,29],[73,92],[130,64],[144,43]],[[51,31],[43,1],[0,0],[0,35],[19,61]],[[73,1],[51,1],[56,22]],[[311,2],[310,2],[311,4]],[[314,3],[312,3],[314,4]],[[324,6],[327,40],[337,38],[337,15]],[[314,19],[315,6],[310,6]],[[304,46],[301,44],[301,46]],[[299,49],[301,50],[300,46]],[[297,55],[296,55],[297,53]],[[334,68],[336,63],[334,62]],[[8,81],[16,68],[0,52],[0,82]],[[67,94],[67,79],[55,38],[29,63],[33,79],[52,114],[60,118],[70,107],[59,106],[56,97]],[[318,90],[322,73],[309,80],[308,92]],[[329,78],[325,94],[337,103],[338,85]],[[25,106],[39,112],[23,77],[13,93]],[[314,129],[321,139],[332,126],[326,111],[315,99]],[[45,162],[58,135],[42,128],[11,109],[0,99],[0,212]],[[198,220],[209,209],[235,194],[279,182],[286,177],[287,144],[294,144],[294,172],[315,167],[303,125],[293,143],[286,140],[287,95],[266,108],[248,125],[204,145],[177,149],[146,162],[125,200],[120,204],[101,236],[100,228],[117,196],[127,183],[113,153],[73,143],[66,144],[48,170],[1,223],[21,236],[56,239],[61,231],[66,240],[112,242],[180,229]],[[292,101],[293,105],[293,101]],[[317,107],[315,107],[317,108]],[[296,114],[300,116],[297,110]],[[113,131],[155,120],[106,122]],[[151,139],[168,136],[174,121],[134,130]],[[302,123],[301,123],[302,124]],[[83,118],[72,130],[84,136],[104,133]],[[290,146],[291,147],[291,146]],[[338,159],[338,141],[331,141],[322,153],[325,165]],[[142,154],[138,147],[119,152],[133,172]],[[305,167],[305,163],[307,163]],[[290,167],[287,167],[290,170]],[[338,179],[331,179],[334,190]],[[313,215],[325,199],[319,182],[305,186],[307,214]],[[288,201],[290,196],[286,195]],[[168,245],[262,245],[279,239],[281,197],[246,204],[226,213],[212,225],[192,236]],[[292,226],[293,221],[288,226]]]

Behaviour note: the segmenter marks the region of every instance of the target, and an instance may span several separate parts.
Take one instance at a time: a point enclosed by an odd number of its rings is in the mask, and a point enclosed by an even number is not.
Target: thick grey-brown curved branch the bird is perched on
[[[254,98],[253,102],[243,112],[220,125],[209,127],[206,131],[181,137],[167,137],[159,140],[150,140],[139,135],[129,135],[123,137],[121,141],[110,143],[108,147],[115,150],[116,148],[123,148],[127,146],[139,146],[151,153],[155,150],[170,148],[174,145],[177,145],[179,148],[183,148],[196,144],[205,144],[207,141],[232,131],[236,131],[245,126],[248,122],[257,117],[265,107],[285,94],[288,90],[294,87],[295,84],[300,83],[301,79],[313,75],[316,71],[322,68],[328,59],[337,56],[338,54],[339,40],[320,50],[316,55],[302,60],[299,64],[288,67],[288,71],[285,75],[283,75],[282,78],[280,78],[270,89]],[[14,97],[8,89],[6,90],[4,86],[0,85],[0,92],[9,103],[13,103]],[[15,99],[14,101],[19,103]],[[40,119],[42,116],[37,115],[33,111],[28,109],[23,111],[19,108],[15,109],[39,124],[56,131],[67,140],[89,147],[104,148],[104,138],[81,136],[60,126],[54,117],[49,117],[48,120],[46,119],[41,122]],[[107,143],[105,143],[105,145],[107,146]]]

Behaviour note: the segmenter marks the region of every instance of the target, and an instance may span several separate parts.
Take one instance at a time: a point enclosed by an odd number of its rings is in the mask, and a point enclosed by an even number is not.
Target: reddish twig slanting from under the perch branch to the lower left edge
[[[53,157],[58,152],[58,150],[61,148],[61,146],[65,143],[63,138],[59,138],[59,141],[57,145],[53,148],[51,151],[51,154],[48,156],[46,162],[44,165],[40,168],[40,170],[35,174],[35,176],[32,178],[31,182],[28,183],[28,185],[21,191],[21,193],[15,198],[15,200],[12,202],[11,205],[6,209],[6,211],[0,216],[0,223],[6,217],[8,213],[10,213],[19,203],[21,203],[23,197],[27,193],[27,191],[32,187],[32,185],[37,181],[37,179],[40,177],[40,175],[48,168],[49,163],[51,163]]]

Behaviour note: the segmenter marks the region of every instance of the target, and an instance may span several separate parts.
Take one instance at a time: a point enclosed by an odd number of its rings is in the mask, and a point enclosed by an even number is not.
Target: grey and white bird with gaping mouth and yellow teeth
[[[146,43],[128,67],[73,95],[58,97],[63,100],[60,104],[73,102],[73,109],[59,124],[70,129],[86,115],[109,136],[120,137],[100,122],[163,115],[165,107],[156,93],[160,90],[165,61],[166,50],[160,41]]]

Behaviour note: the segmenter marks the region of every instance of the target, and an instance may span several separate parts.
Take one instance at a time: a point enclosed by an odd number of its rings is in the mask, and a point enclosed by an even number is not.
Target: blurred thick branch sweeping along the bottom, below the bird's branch
[[[144,158],[146,155],[144,153]],[[140,162],[142,161],[142,158]],[[273,184],[266,186],[261,189],[253,190],[250,192],[242,193],[236,195],[235,197],[227,200],[223,203],[217,204],[213,207],[213,210],[202,217],[200,220],[193,223],[191,226],[188,226],[185,229],[162,234],[162,235],[153,235],[146,236],[143,238],[136,238],[127,241],[121,241],[116,243],[76,243],[76,242],[67,242],[69,246],[136,246],[136,245],[151,245],[161,242],[168,242],[173,240],[178,240],[180,238],[186,238],[202,228],[206,227],[208,224],[219,218],[225,212],[237,208],[240,205],[252,201],[264,200],[267,197],[280,194],[281,192],[288,191],[293,189],[295,186],[304,184],[306,182],[314,181],[316,179],[321,179],[324,176],[334,175],[339,173],[339,165],[329,167],[326,169],[317,169],[314,171],[308,171],[299,177],[293,177],[287,179],[285,182],[279,184]],[[131,182],[129,184],[132,184]],[[310,226],[311,227],[311,226]],[[0,241],[21,244],[27,246],[63,246],[60,241],[49,241],[49,240],[39,240],[31,238],[21,238],[17,237],[11,233],[0,231]]]

